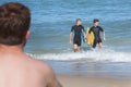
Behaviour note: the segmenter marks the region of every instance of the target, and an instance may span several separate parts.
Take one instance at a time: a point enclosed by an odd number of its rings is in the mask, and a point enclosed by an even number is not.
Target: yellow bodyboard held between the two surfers
[[[94,33],[93,32],[88,33],[88,32],[90,32],[90,27],[87,27],[87,32],[86,32],[86,36],[88,36],[87,37],[88,40],[86,39],[86,42],[87,42],[87,45],[93,47],[93,44],[94,44]]]

